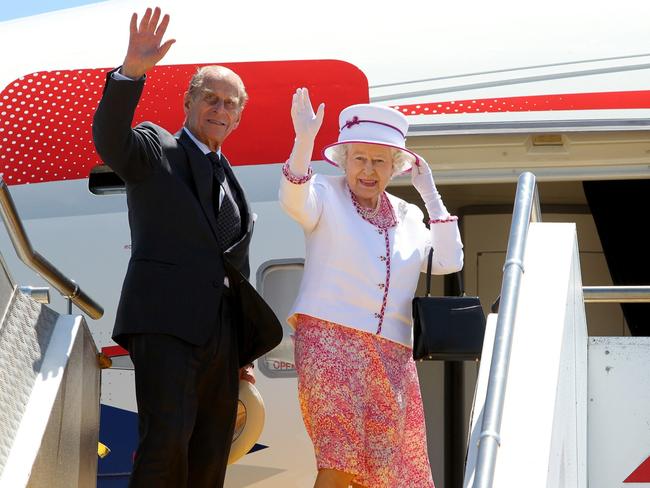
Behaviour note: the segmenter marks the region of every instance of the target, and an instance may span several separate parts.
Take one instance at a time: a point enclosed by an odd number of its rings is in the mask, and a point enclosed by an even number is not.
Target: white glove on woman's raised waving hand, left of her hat
[[[314,150],[314,140],[320,130],[325,116],[325,104],[318,106],[317,112],[311,106],[309,90],[298,88],[291,102],[291,119],[296,139],[289,156],[289,169],[296,175],[305,175],[309,170],[311,153]]]

